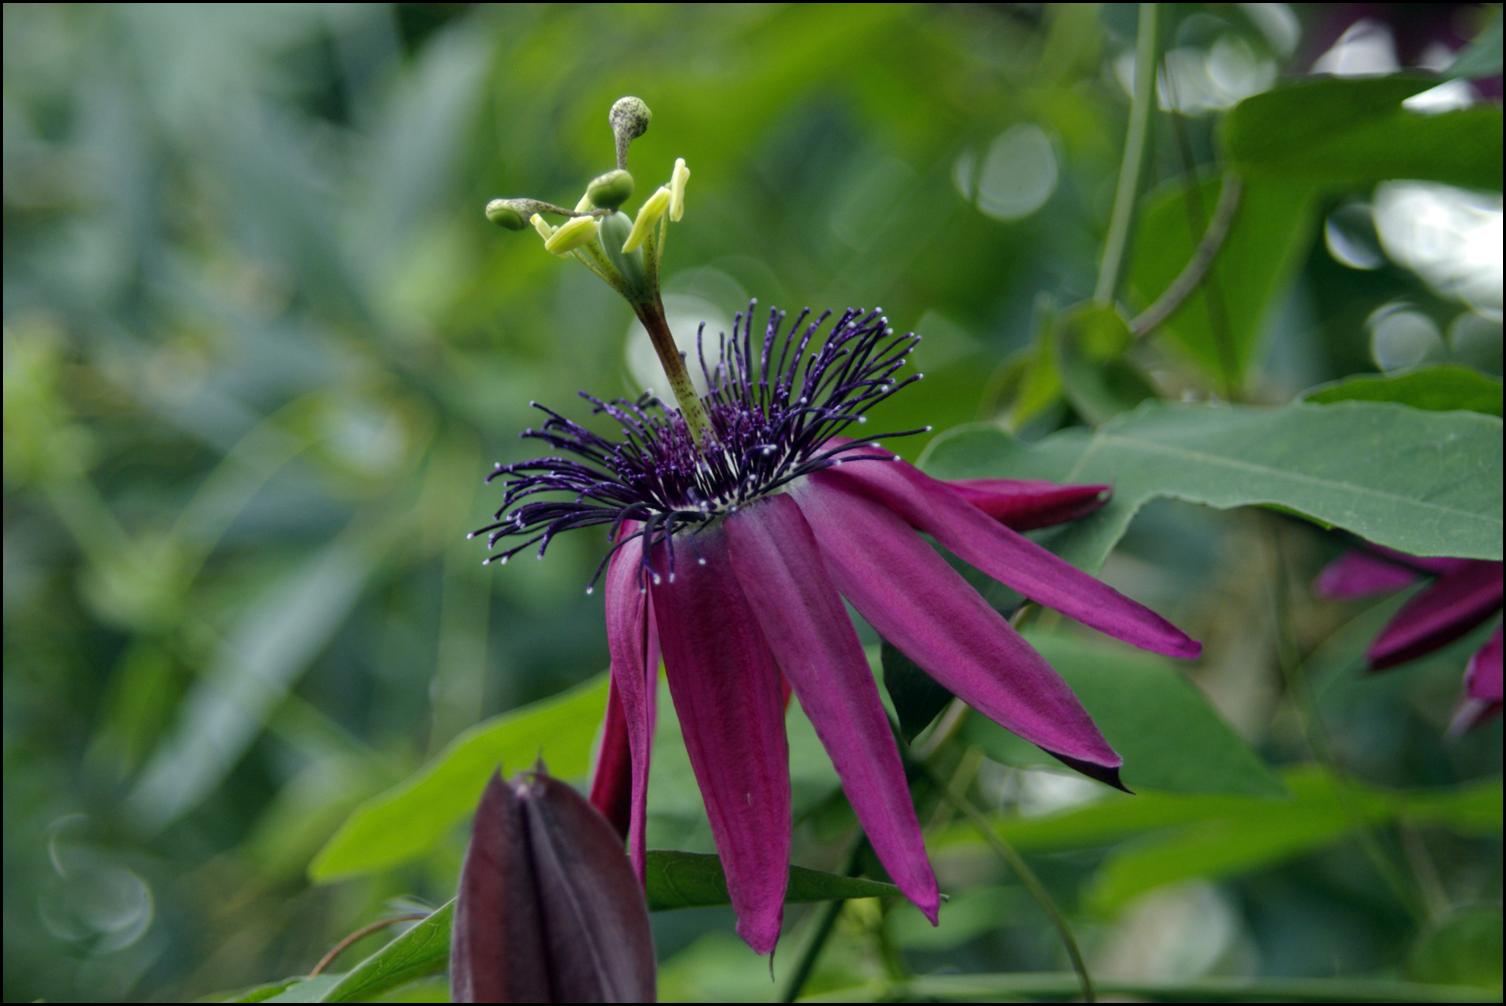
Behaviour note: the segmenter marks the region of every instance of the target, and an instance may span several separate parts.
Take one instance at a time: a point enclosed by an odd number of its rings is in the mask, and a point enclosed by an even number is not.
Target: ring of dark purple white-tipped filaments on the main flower
[[[770,310],[768,325],[755,340],[755,307],[756,303],[748,304],[747,313],[733,319],[730,337],[718,337],[714,364],[706,360],[705,325],[696,336],[708,389],[702,401],[711,420],[703,446],[696,446],[679,411],[652,395],[602,401],[580,393],[593,413],[617,423],[617,440],[533,402],[548,419],[523,431],[523,437],[542,440],[557,453],[498,464],[486,476],[488,482],[501,479],[506,492],[494,523],[470,536],[486,535],[491,550],[505,539],[523,541],[494,551],[485,562],[505,563],[535,544],[542,557],[562,532],[605,526],[613,551],[642,536],[645,572],[655,580],[673,577],[678,532],[703,529],[819,468],[872,459],[881,437],[923,432],[908,429],[828,444],[849,425],[866,422],[864,413],[873,405],[923,376],[895,376],[920,336],[896,334],[881,309],[848,309],[825,342],[812,349],[831,312],[810,318],[807,307],[788,328],[785,312]],[[843,456],[855,450],[867,453]],[[622,535],[630,521],[637,530]],[[660,544],[669,545],[663,550],[663,574],[648,565]],[[605,562],[596,568],[592,584]]]

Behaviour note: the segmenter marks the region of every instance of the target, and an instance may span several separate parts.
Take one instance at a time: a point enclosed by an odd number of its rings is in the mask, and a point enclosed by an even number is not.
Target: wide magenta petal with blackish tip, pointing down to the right
[[[1119,785],[1122,759],[1045,658],[905,521],[849,485],[810,479],[791,492],[842,595],[970,706]]]

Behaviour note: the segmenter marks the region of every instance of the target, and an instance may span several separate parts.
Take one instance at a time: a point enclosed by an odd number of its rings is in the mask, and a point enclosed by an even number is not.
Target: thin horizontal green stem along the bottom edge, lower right
[[[1071,995],[1069,973],[932,974],[896,988],[875,983],[845,988],[806,1001],[854,1003],[884,995],[890,1001],[1041,1000]],[[1190,982],[1102,980],[1105,995],[1131,995],[1160,1003],[1498,1003],[1498,991],[1468,985],[1413,985],[1379,979],[1203,977]]]

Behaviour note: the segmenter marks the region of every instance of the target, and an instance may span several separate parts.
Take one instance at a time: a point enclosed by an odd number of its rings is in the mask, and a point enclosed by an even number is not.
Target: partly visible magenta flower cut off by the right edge
[[[1366,652],[1370,670],[1386,670],[1431,654],[1501,611],[1501,563],[1479,559],[1407,556],[1379,545],[1345,553],[1319,575],[1327,598],[1364,598],[1432,581],[1387,622]],[[1501,626],[1470,657],[1464,697],[1450,730],[1468,730],[1501,711]]]

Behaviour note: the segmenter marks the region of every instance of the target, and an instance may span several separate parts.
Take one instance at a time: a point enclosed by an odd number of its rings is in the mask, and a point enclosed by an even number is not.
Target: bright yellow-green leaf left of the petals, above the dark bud
[[[411,779],[372,797],[309,866],[315,883],[372,873],[423,855],[465,821],[492,773],[542,758],[559,779],[581,779],[607,703],[607,676],[480,723]]]

